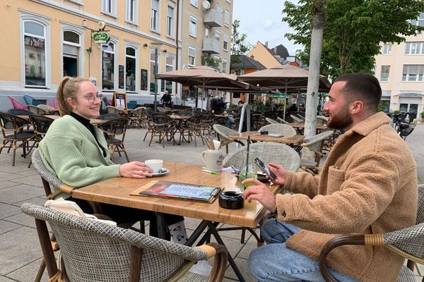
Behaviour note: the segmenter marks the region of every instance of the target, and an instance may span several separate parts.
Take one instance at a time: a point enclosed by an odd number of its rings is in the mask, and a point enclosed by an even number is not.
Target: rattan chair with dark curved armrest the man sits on
[[[326,257],[331,250],[341,245],[386,247],[408,259],[407,266],[402,266],[396,281],[417,281],[417,277],[413,273],[414,262],[424,264],[424,185],[418,185],[418,210],[415,226],[385,234],[340,235],[329,240],[322,247],[319,255],[319,271],[327,282],[337,282],[337,280],[328,271]]]

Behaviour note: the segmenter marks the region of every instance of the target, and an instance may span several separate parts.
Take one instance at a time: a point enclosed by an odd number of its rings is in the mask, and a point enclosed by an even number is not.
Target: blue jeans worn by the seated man
[[[261,233],[266,245],[253,250],[247,264],[259,281],[324,281],[318,261],[285,245],[285,241],[301,228],[271,219],[264,223]],[[358,281],[329,267],[338,281]]]

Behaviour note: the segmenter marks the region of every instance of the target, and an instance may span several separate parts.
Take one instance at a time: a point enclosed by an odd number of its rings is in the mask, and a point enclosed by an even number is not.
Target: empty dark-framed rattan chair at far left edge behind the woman
[[[0,128],[3,134],[0,154],[4,147],[8,147],[8,152],[13,149],[12,166],[15,166],[16,149],[22,148],[23,157],[25,158],[30,152],[29,142],[35,142],[35,133],[33,131],[23,131],[28,125],[31,125],[30,121],[12,114],[0,113]]]

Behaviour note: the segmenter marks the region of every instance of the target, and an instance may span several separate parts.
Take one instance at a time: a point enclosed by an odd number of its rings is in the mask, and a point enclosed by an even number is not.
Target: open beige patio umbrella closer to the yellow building
[[[209,66],[195,66],[177,71],[158,73],[158,79],[170,80],[182,84],[205,87],[237,87],[249,88],[249,84],[237,80],[237,75],[225,75]],[[209,100],[209,97],[208,97]],[[203,101],[203,100],[202,100]]]

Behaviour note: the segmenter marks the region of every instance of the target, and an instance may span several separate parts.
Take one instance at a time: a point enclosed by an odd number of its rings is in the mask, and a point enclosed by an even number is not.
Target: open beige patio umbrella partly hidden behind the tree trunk
[[[284,93],[307,88],[309,72],[303,68],[291,65],[282,65],[275,68],[267,68],[262,71],[255,71],[247,75],[240,75],[241,81],[261,87],[284,90]],[[324,76],[319,78],[319,90],[328,91],[331,83]],[[284,99],[285,104],[285,99]],[[285,117],[285,106],[284,106]]]

